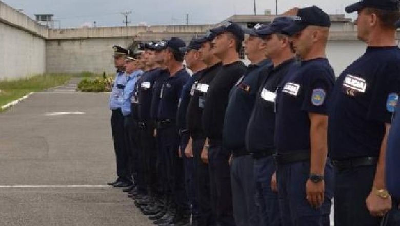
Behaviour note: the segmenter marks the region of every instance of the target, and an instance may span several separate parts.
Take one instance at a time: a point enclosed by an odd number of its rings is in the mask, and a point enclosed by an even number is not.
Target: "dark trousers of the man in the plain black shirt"
[[[210,144],[208,167],[211,205],[216,210],[216,222],[220,226],[235,225],[229,157],[230,154],[226,148],[221,145]]]

